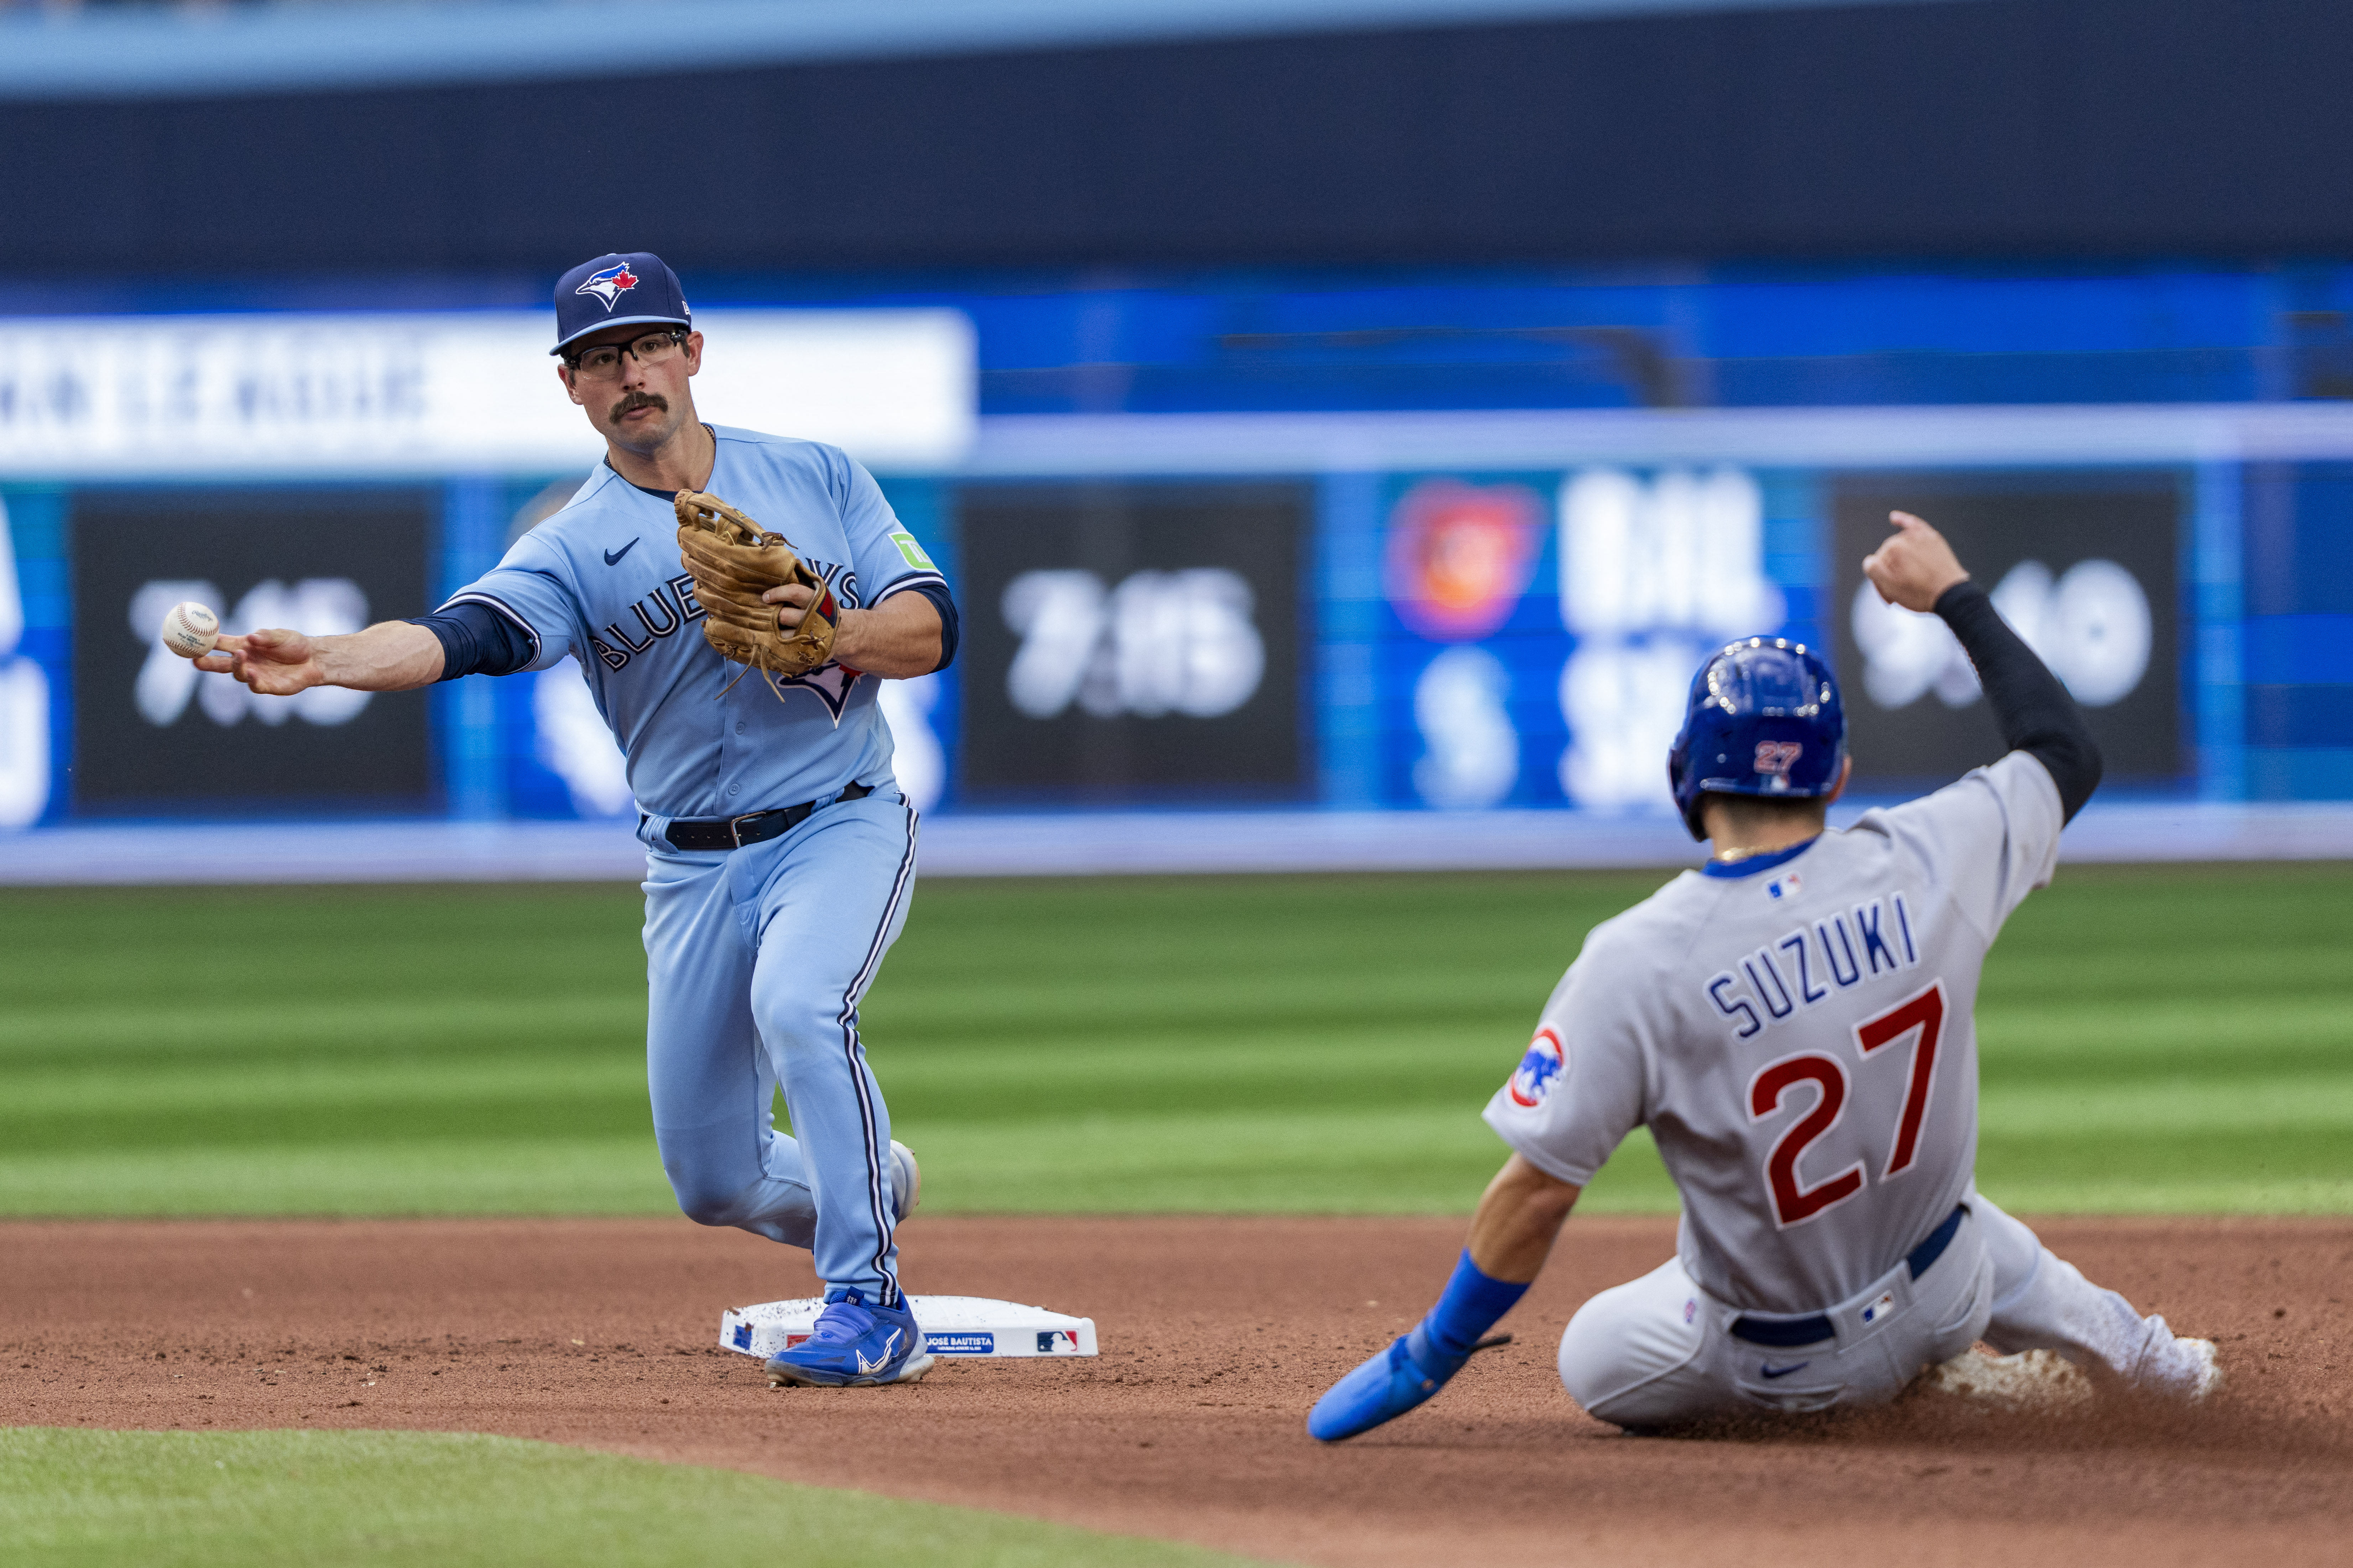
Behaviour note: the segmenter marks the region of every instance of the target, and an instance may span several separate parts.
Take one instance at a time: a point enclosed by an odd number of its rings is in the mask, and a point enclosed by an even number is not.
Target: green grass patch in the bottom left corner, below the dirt
[[[729,1469],[440,1432],[0,1429],[9,1563],[73,1568],[1242,1568],[1247,1559]]]

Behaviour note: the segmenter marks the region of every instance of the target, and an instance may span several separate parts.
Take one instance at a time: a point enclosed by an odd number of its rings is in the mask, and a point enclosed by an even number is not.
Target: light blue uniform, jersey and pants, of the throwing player
[[[793,550],[849,609],[944,583],[873,475],[833,447],[715,428],[713,496]],[[896,1305],[913,1201],[859,1001],[915,882],[915,809],[889,771],[875,677],[828,663],[784,701],[704,642],[668,494],[600,465],[572,505],[449,599],[522,628],[529,668],[572,656],[647,813],[645,1067],[685,1213],[807,1246],[819,1279]],[[866,795],[842,799],[849,785]],[[784,837],[682,851],[671,818],[816,802]],[[774,1126],[784,1088],[798,1138]]]

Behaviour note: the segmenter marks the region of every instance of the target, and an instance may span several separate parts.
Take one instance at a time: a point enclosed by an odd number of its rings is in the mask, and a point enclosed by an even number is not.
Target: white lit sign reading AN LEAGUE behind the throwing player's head
[[[0,477],[586,470],[544,310],[0,317]],[[701,310],[701,411],[882,468],[972,444],[958,310]]]

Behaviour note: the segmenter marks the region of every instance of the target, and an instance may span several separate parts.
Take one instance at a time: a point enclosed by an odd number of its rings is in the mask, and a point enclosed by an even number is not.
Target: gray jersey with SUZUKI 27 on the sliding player
[[[1704,1291],[1847,1300],[1969,1190],[1977,976],[2059,827],[2049,773],[2012,752],[1795,851],[1682,872],[1593,929],[1487,1124],[1577,1185],[1649,1126]]]

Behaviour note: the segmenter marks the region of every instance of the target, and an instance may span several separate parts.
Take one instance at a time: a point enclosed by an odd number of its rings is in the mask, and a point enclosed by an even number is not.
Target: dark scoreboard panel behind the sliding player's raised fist
[[[1887,512],[1929,520],[2002,618],[2066,682],[2108,783],[2193,771],[2181,729],[2172,473],[1849,475],[1831,484],[1838,679],[1864,790],[1939,785],[2002,755],[1977,672],[1944,621],[1880,602],[1861,559]]]

